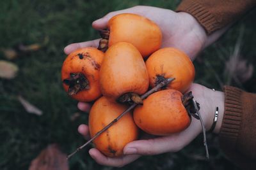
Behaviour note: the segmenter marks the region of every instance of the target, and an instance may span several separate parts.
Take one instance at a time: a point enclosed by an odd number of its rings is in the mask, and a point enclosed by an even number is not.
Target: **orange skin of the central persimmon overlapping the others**
[[[100,68],[103,96],[116,100],[127,92],[144,94],[148,84],[145,62],[135,46],[120,42],[108,48]]]

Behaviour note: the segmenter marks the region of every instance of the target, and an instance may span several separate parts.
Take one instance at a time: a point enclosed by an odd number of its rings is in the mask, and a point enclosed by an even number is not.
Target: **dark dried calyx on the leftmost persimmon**
[[[70,73],[70,78],[63,80],[63,83],[68,85],[68,95],[90,89],[89,81],[82,73]]]

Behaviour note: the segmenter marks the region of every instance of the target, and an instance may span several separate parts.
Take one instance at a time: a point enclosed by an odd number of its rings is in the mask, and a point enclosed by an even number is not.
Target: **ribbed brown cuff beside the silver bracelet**
[[[243,91],[235,87],[225,86],[224,92],[225,111],[220,130],[220,139],[224,145],[228,145],[228,148],[232,148],[236,145],[236,140],[241,129],[241,92]]]

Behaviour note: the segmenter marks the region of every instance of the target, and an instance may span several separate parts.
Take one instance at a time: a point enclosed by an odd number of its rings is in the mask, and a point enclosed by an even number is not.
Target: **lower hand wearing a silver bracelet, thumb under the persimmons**
[[[220,131],[224,112],[223,92],[213,91],[198,84],[191,85],[188,91],[192,91],[195,100],[200,103],[200,113],[207,130],[211,128],[215,107],[219,107],[218,122],[214,130],[214,132],[218,133]],[[87,106],[84,108],[83,107],[83,104],[79,105],[80,109],[88,109]],[[89,138],[87,125],[80,125],[78,131],[86,138]],[[195,139],[200,132],[202,132],[200,121],[192,117],[191,124],[185,131],[172,134],[170,136],[141,139],[128,143],[124,147],[124,156],[122,157],[106,157],[95,148],[92,148],[89,153],[99,164],[105,166],[122,167],[125,164],[129,164],[130,162],[138,159],[141,155],[156,155],[164,152],[177,152]]]

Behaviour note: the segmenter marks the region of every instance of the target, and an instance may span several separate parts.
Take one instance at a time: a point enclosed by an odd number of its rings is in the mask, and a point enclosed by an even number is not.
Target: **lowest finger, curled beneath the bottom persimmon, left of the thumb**
[[[106,157],[99,150],[92,148],[89,150],[91,157],[98,163],[104,166],[122,167],[134,160],[138,159],[140,155],[125,155],[122,157]]]

